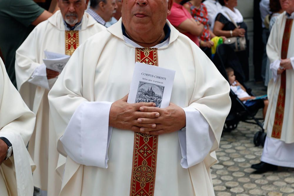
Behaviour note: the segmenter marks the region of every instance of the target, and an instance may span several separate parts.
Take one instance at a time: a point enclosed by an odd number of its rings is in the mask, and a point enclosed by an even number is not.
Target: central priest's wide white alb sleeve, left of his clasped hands
[[[112,127],[108,127],[111,102],[84,102],[74,112],[60,138],[76,163],[107,168]]]

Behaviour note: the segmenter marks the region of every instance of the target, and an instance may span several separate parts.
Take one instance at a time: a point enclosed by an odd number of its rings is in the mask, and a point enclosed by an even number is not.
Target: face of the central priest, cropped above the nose
[[[173,0],[122,0],[121,16],[127,30],[137,33],[163,29]]]

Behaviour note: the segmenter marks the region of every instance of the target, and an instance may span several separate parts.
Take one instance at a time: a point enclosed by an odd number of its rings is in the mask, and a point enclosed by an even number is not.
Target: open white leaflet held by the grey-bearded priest
[[[59,54],[54,52],[44,51],[46,59],[43,59],[43,62],[46,68],[53,71],[61,72],[66,65],[67,61],[71,56],[65,54]]]

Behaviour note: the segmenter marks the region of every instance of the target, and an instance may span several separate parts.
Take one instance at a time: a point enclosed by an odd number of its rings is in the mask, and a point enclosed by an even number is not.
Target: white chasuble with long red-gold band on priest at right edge
[[[288,19],[288,22],[293,19]],[[270,63],[275,63],[283,58],[294,57],[294,24],[285,25],[287,21],[285,12],[278,16],[273,26],[266,52]],[[284,38],[287,42],[288,51],[283,49],[284,30],[287,27],[288,36]],[[287,39],[287,40],[286,40]],[[286,48],[284,44],[284,48]],[[287,49],[286,48],[286,49]],[[284,54],[284,55],[283,55]],[[282,56],[283,55],[283,56]],[[285,75],[282,77],[282,75]],[[283,82],[284,81],[284,82]],[[281,85],[282,83],[282,85]],[[278,75],[276,81],[270,80],[268,84],[268,110],[265,116],[264,129],[267,136],[281,140],[285,143],[294,143],[294,70],[289,69]],[[281,87],[285,90],[282,92]]]

